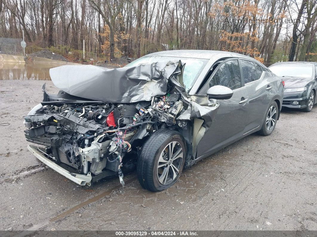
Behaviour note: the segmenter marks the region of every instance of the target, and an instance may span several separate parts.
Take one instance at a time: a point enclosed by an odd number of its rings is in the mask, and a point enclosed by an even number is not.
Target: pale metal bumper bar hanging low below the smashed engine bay
[[[71,181],[75,182],[76,184],[79,184],[82,186],[84,186],[84,185],[90,186],[91,185],[92,177],[91,177],[90,172],[88,172],[87,175],[71,173],[71,172],[65,170],[64,168],[62,168],[61,166],[55,164],[54,161],[45,157],[43,155],[43,153],[41,153],[37,149],[36,146],[28,145],[28,149],[30,152],[32,152],[35,155],[35,157],[37,159],[42,161],[45,165],[49,166],[50,168],[52,168],[56,172],[60,173],[61,175],[65,176],[66,178],[70,179]]]

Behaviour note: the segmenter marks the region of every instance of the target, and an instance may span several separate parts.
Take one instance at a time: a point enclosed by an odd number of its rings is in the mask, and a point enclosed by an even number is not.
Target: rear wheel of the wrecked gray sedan
[[[259,131],[261,135],[268,136],[272,134],[277,122],[278,113],[277,103],[273,101],[266,111],[262,128]]]

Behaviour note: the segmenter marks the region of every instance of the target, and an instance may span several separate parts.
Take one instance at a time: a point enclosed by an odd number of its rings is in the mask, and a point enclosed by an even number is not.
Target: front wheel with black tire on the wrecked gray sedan
[[[168,154],[165,153],[168,151],[169,149],[168,147],[170,147],[170,144],[175,145],[171,149],[172,150],[171,155],[169,155],[169,153]],[[167,162],[167,163],[159,162],[161,154],[164,154],[165,158],[167,158],[168,156],[172,158],[173,157],[172,155],[176,155],[176,152],[179,152],[180,148],[182,149],[181,151],[183,152],[182,159],[179,157],[178,159],[175,159],[174,161],[172,159],[170,159],[168,162],[164,160],[164,162]],[[175,153],[173,153],[173,149],[175,149]],[[138,158],[137,176],[139,179],[139,183],[141,184],[143,188],[150,190],[152,192],[158,192],[158,191],[162,191],[169,188],[171,185],[176,183],[176,181],[179,178],[179,175],[183,171],[185,157],[186,157],[185,142],[184,142],[183,136],[179,132],[171,130],[171,129],[159,129],[155,131],[153,134],[150,135],[148,140],[144,143],[142,147],[141,155]],[[159,163],[160,163],[160,166],[162,165],[164,166],[158,167]],[[173,168],[172,166],[175,168],[177,166],[179,168],[178,172],[176,172],[176,169]],[[162,173],[160,174],[161,170],[162,170]],[[171,182],[169,183],[165,182],[166,184],[163,184],[164,182],[162,182],[162,179],[160,179],[161,181],[159,181],[159,176],[160,178],[163,178],[163,181],[165,180],[165,178],[163,177],[164,173],[167,174],[165,177],[166,181],[171,181]],[[174,178],[176,173],[177,173],[176,178]],[[169,175],[171,175],[172,177],[169,178]]]

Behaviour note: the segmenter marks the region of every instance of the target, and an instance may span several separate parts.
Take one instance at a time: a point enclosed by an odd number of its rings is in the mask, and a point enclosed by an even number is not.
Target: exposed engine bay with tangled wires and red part
[[[58,164],[93,176],[106,169],[100,178],[119,173],[124,185],[121,168],[134,168],[138,140],[162,126],[186,126],[186,121],[176,121],[184,109],[180,96],[168,94],[132,104],[47,102],[34,115],[25,117],[25,137],[46,146],[43,153]]]

